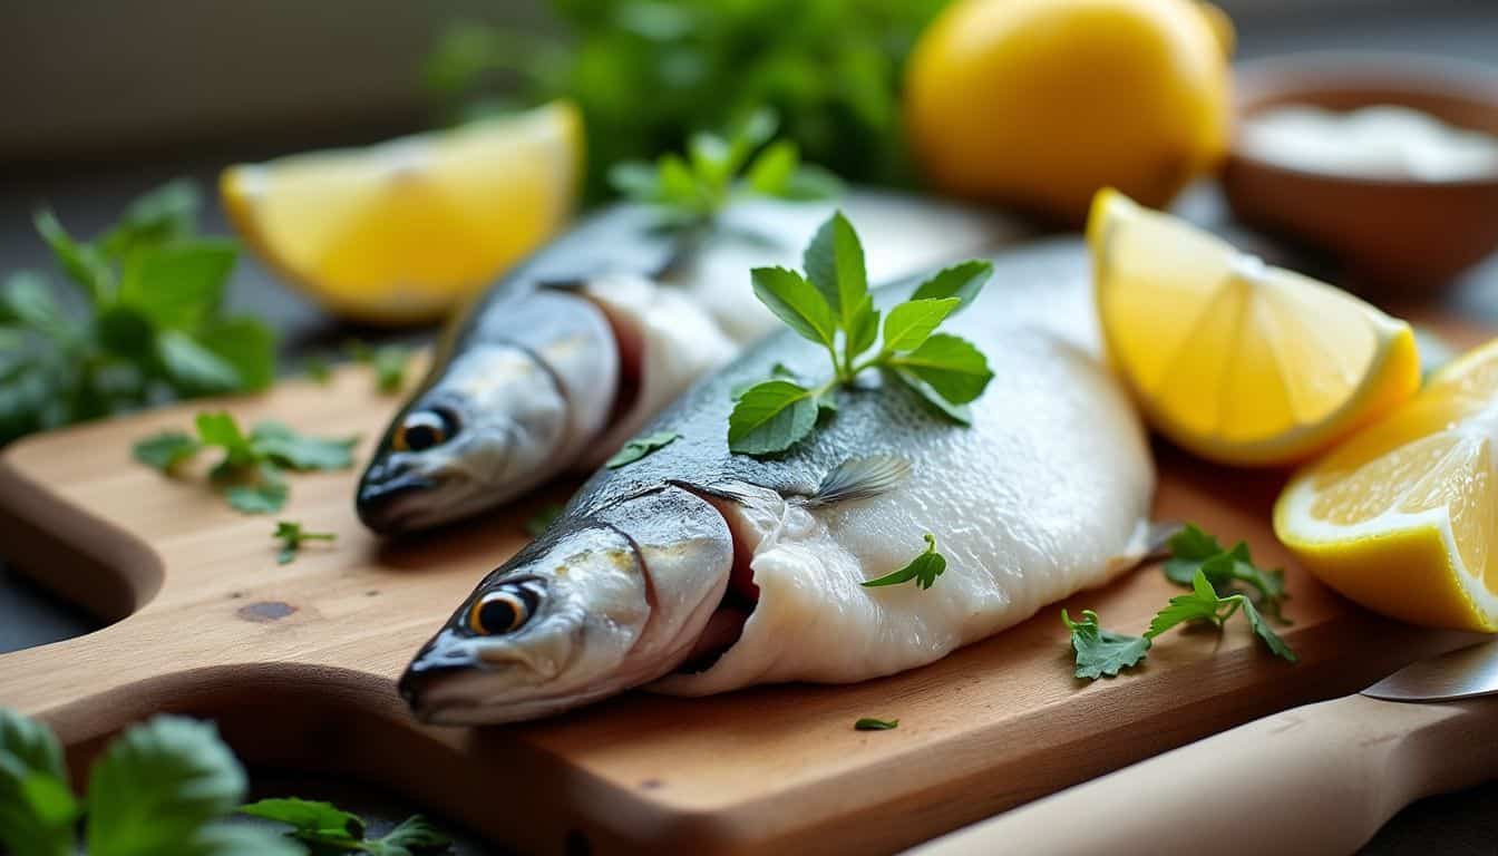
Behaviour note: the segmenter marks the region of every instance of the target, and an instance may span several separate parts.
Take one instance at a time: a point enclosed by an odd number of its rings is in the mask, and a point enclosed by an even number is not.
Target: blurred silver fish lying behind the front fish
[[[893,279],[1017,234],[995,214],[854,193],[870,276]],[[774,328],[749,268],[798,264],[831,204],[745,201],[704,235],[616,205],[496,283],[454,325],[360,480],[376,532],[424,529],[589,472],[694,381]]]

